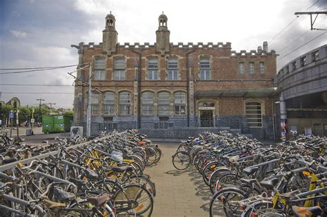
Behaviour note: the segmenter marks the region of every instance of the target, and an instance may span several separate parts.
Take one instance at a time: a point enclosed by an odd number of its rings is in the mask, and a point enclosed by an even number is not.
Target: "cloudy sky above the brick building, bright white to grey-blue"
[[[309,15],[294,15],[327,11],[327,0],[2,0],[0,68],[76,65],[77,50],[70,45],[101,42],[110,11],[117,20],[119,43],[154,43],[157,18],[164,11],[170,42],[228,41],[239,52],[268,41],[268,49],[279,54],[277,70],[327,43],[326,30],[310,30]],[[326,15],[317,17],[314,28],[327,28]],[[71,108],[73,79],[67,72],[75,68],[12,74],[3,73],[19,70],[0,70],[1,99],[17,96],[22,105],[45,99],[56,103],[54,107]]]

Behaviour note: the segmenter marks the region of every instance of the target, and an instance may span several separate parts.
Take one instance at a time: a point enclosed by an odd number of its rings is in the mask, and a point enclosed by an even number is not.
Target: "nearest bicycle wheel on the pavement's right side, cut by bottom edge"
[[[210,200],[210,216],[240,216],[239,200],[246,198],[241,189],[226,188],[217,192]]]

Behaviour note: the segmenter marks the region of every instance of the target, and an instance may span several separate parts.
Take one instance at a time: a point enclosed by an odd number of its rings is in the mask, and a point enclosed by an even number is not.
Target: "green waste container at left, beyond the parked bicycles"
[[[68,132],[72,125],[72,116],[48,114],[43,115],[43,129],[42,132]]]

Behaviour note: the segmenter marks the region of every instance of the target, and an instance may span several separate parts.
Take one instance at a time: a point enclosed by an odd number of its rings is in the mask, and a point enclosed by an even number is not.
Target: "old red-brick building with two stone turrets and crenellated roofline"
[[[156,43],[117,42],[115,17],[106,17],[103,42],[79,43],[77,77],[88,82],[92,63],[92,134],[139,128],[152,136],[185,137],[233,130],[274,137],[274,50],[231,50],[231,43],[170,43],[159,16]],[[88,87],[75,83],[75,124],[86,125]]]

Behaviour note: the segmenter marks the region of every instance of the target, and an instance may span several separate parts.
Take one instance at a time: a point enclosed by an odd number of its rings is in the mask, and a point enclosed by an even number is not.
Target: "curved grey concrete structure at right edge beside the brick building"
[[[275,85],[280,90],[277,113],[288,132],[327,136],[327,45],[286,64]]]

